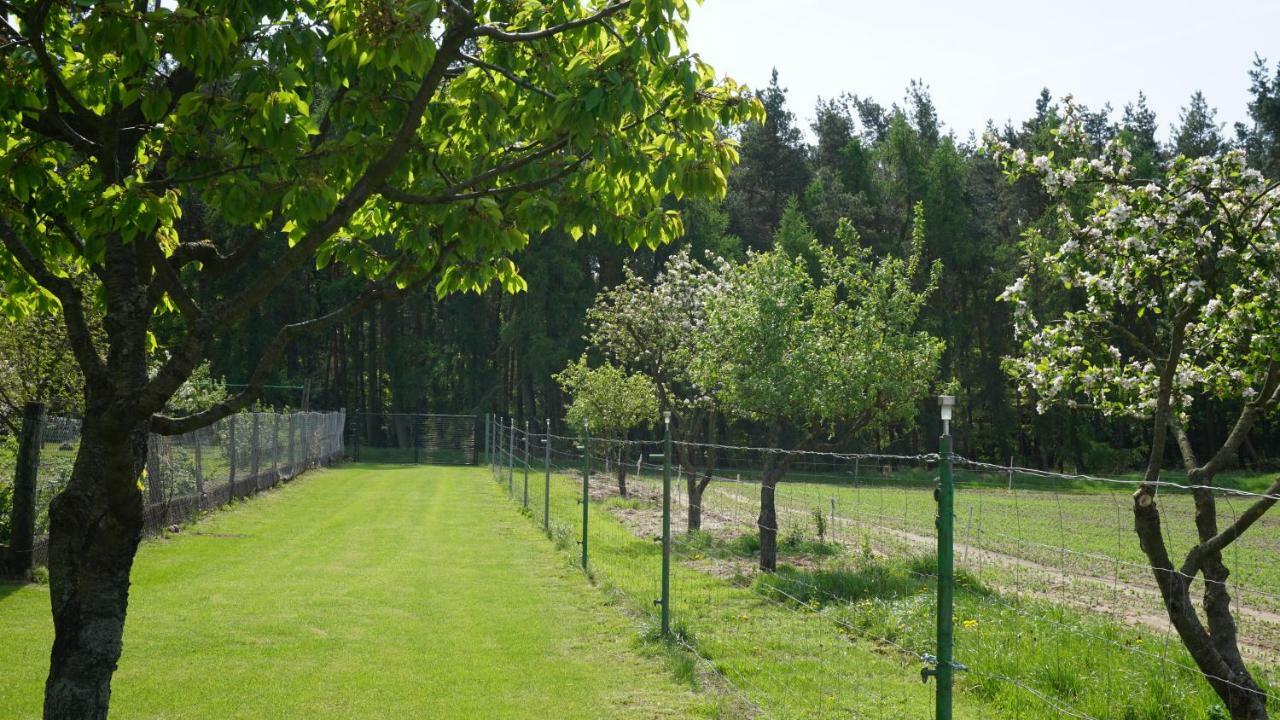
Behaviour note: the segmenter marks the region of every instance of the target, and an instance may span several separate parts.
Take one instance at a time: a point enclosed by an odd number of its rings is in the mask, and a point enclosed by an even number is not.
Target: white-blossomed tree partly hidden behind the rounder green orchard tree
[[[588,310],[591,346],[634,373],[649,378],[658,406],[672,414],[681,465],[689,468],[689,530],[701,528],[703,492],[716,471],[717,409],[692,377],[696,338],[707,324],[707,297],[723,268],[708,268],[682,250],[650,283],[627,269],[626,279],[602,292]],[[707,441],[696,447],[695,443]],[[700,465],[700,471],[692,468]]]

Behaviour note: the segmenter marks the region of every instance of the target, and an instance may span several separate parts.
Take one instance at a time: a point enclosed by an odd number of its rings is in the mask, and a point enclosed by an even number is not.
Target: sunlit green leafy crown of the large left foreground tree
[[[596,10],[55,4],[42,35],[55,76],[33,53],[5,59],[0,214],[60,270],[101,263],[113,243],[173,252],[218,228],[260,237],[255,258],[440,293],[525,290],[512,258],[558,224],[655,247],[684,231],[667,197],[723,195],[737,152],[721,129],[762,108],[687,53],[684,0],[580,23]],[[64,88],[47,110],[65,126],[29,122],[51,81]],[[179,200],[196,222],[177,222]],[[44,297],[13,263],[0,272],[20,278],[0,302]],[[205,272],[188,263],[180,279]],[[246,286],[273,268],[248,272]],[[175,306],[152,296],[157,311]]]

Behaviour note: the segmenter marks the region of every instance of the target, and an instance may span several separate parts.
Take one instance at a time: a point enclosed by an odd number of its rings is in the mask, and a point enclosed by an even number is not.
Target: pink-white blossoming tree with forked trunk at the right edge
[[[1235,639],[1222,551],[1275,505],[1280,479],[1226,527],[1212,486],[1258,419],[1280,406],[1280,182],[1248,169],[1238,151],[1178,158],[1164,179],[1135,177],[1119,141],[1088,158],[1070,101],[1055,138],[1055,151],[1039,156],[988,141],[1010,178],[1043,186],[1059,236],[1030,238],[1041,250],[1002,296],[1014,304],[1023,343],[1010,359],[1012,375],[1042,409],[1087,406],[1152,424],[1134,493],[1138,541],[1174,628],[1231,717],[1266,717]],[[1075,302],[1038,311],[1033,288],[1042,282],[1060,282]],[[1208,447],[1196,447],[1188,432],[1202,398],[1239,406]],[[1180,564],[1156,500],[1169,438],[1196,487],[1198,543]],[[1190,594],[1197,577],[1203,620]]]

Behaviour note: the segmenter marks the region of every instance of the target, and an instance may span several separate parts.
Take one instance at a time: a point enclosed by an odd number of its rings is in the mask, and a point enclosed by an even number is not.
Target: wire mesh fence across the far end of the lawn
[[[474,465],[480,419],[430,413],[352,413],[352,457],[362,462]]]

